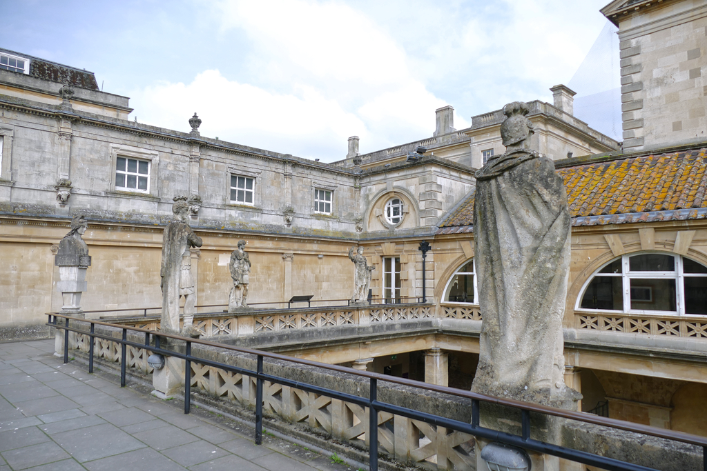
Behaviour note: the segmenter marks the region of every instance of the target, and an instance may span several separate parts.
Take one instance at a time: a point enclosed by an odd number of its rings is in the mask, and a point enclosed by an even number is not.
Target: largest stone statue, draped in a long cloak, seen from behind
[[[474,243],[483,313],[472,390],[575,408],[565,386],[562,317],[570,261],[570,212],[553,162],[530,150],[528,107],[503,107],[506,153],[476,174]]]

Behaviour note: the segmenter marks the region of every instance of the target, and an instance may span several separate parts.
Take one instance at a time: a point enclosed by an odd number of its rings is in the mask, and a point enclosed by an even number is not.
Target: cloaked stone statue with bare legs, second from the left
[[[194,278],[192,278],[192,247],[201,247],[201,237],[194,231],[189,220],[189,203],[186,196],[175,196],[172,212],[176,220],[170,222],[162,235],[162,268],[160,289],[162,290],[162,321],[160,330],[180,333],[179,304],[185,297],[184,328],[182,334],[196,336],[194,323],[195,304]]]

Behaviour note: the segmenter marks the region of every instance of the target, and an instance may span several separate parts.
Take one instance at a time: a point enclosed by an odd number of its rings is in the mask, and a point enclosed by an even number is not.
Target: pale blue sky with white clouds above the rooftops
[[[619,138],[607,3],[0,0],[0,47],[93,71],[140,123],[190,131],[197,112],[202,136],[334,162],[349,136],[374,152],[431,137],[439,107],[463,129],[559,83]]]

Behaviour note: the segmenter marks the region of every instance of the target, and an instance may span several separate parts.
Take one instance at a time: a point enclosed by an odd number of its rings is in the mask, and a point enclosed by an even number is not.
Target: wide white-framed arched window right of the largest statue
[[[679,255],[623,255],[588,282],[578,309],[707,314],[707,266]]]

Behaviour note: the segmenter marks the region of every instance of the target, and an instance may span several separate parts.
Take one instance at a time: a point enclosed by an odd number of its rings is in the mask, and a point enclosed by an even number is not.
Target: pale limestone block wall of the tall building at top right
[[[707,5],[670,1],[618,19],[624,149],[703,140]]]

